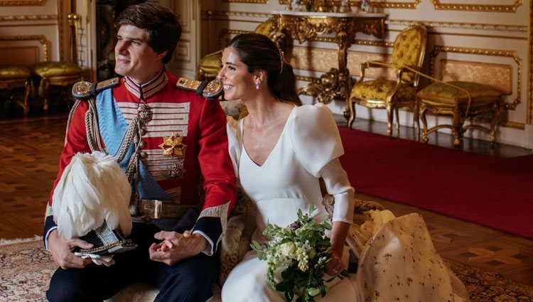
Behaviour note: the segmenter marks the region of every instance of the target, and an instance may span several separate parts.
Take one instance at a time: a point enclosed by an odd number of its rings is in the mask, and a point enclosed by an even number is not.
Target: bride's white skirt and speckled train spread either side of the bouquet
[[[328,293],[316,301],[469,301],[464,285],[436,252],[420,215],[372,211],[367,222],[352,233],[364,243],[357,253],[357,274],[328,284]],[[266,261],[254,251],[246,254],[227,277],[222,301],[285,301],[269,286],[266,270]]]

